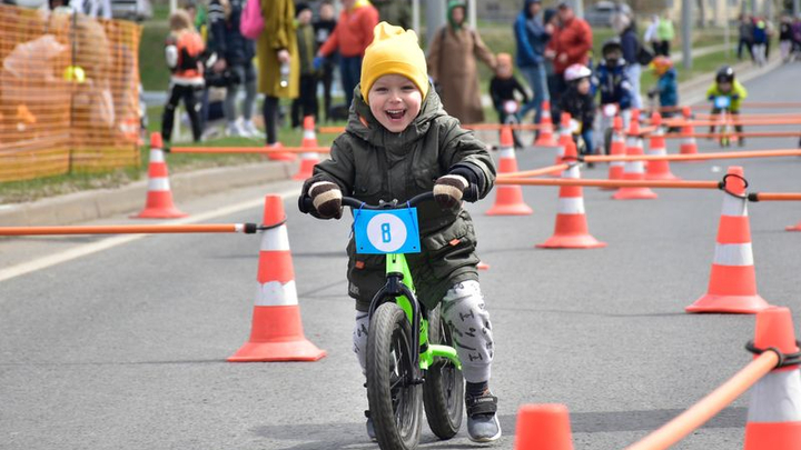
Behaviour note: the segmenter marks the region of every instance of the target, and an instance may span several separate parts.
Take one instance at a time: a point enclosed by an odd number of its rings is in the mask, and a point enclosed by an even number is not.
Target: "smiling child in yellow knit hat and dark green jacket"
[[[418,208],[422,251],[406,256],[419,301],[441,306],[453,330],[466,381],[467,431],[478,442],[501,437],[497,398],[490,391],[493,338],[478,286],[476,237],[462,201],[484,198],[495,167],[486,144],[448,116],[428,81],[426,60],[414,31],[380,22],[365,51],[362,79],[345,132],[330,159],[319,162],[303,187],[300,208],[320,219],[339,219],[343,196],[366,203],[406,201],[434,191]],[[309,197],[313,211],[306,211]],[[357,254],[350,240],[348,293],[356,299],[354,352],[366,368],[368,308],[385,283],[380,254]],[[367,432],[373,438],[372,419]]]

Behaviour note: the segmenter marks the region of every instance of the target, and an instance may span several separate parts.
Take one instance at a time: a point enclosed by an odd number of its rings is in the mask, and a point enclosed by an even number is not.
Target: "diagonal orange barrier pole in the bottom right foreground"
[[[779,356],[774,351],[765,351],[745,366],[720,388],[704,397],[675,419],[659,430],[646,436],[625,450],[663,450],[684,439],[688,434],[712,419],[734,399],[748,391],[762,377],[779,364]]]

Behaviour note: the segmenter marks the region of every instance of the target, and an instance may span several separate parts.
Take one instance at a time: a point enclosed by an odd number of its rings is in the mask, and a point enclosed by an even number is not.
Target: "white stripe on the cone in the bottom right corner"
[[[799,370],[774,371],[751,388],[749,422],[801,422]]]

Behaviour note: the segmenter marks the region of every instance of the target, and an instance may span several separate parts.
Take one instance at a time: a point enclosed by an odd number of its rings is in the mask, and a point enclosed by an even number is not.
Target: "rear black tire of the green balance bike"
[[[454,344],[447,324],[441,319],[439,307],[429,314],[428,341]],[[423,384],[423,404],[428,427],[437,438],[451,439],[458,433],[464,416],[464,377],[451,361],[441,359],[428,368]]]

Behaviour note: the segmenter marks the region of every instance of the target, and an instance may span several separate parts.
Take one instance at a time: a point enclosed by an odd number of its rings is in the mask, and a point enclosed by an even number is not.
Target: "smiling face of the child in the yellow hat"
[[[417,117],[423,94],[408,78],[385,74],[377,79],[367,93],[370,112],[387,130],[399,133]]]

